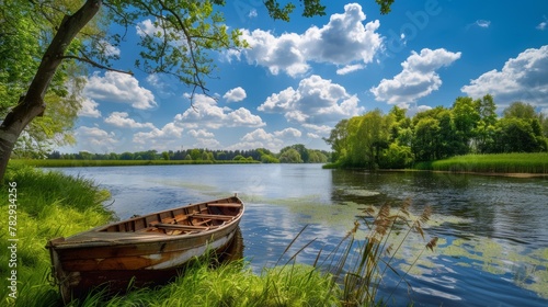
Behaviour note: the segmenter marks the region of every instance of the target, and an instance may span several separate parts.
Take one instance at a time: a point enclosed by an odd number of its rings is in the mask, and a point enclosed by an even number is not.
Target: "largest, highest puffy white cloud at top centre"
[[[344,13],[333,14],[322,27],[311,26],[305,33],[242,31],[251,48],[243,50],[248,62],[267,67],[271,73],[281,71],[297,77],[310,69],[309,61],[344,65],[347,73],[372,62],[380,49],[381,37],[376,33],[379,21],[364,25],[366,15],[357,3],[344,5]],[[239,57],[238,57],[239,58]],[[356,66],[356,61],[363,65]]]

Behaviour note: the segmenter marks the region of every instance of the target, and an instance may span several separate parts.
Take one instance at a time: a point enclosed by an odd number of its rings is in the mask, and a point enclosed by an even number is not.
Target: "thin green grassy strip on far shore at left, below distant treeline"
[[[136,166],[180,166],[180,164],[249,164],[260,163],[249,160],[14,160],[13,163],[38,168],[78,167],[136,167]]]

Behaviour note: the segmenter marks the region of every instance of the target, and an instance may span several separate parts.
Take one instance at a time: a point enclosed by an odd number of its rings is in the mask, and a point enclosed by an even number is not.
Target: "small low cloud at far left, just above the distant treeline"
[[[80,126],[76,129],[75,136],[78,144],[90,152],[112,151],[118,143],[114,133],[107,133],[98,127]]]

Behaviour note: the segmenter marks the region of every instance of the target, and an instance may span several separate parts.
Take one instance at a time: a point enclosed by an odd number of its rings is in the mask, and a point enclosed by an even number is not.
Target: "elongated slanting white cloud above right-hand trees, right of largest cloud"
[[[377,101],[400,104],[404,107],[420,98],[439,89],[442,79],[436,70],[449,66],[460,58],[460,53],[447,52],[444,48],[431,50],[424,48],[420,54],[413,52],[401,64],[402,71],[392,79],[383,79],[369,91]]]

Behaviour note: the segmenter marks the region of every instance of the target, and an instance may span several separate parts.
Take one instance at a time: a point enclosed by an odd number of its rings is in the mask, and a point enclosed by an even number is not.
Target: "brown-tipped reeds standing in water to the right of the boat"
[[[410,200],[396,209],[389,203],[379,209],[369,206],[363,209],[362,223],[356,220],[354,228],[334,250],[320,251],[315,268],[329,272],[333,291],[339,293],[340,306],[385,305],[401,283],[407,284],[406,276],[422,253],[427,249],[433,251],[437,237],[423,246],[406,272],[399,272],[395,268],[396,254],[410,235],[418,234],[425,240],[423,225],[430,219],[432,208],[425,206],[421,215],[413,217],[409,212],[410,206]],[[318,260],[321,259],[321,253],[327,253],[328,257],[320,262]],[[388,297],[378,297],[378,291],[389,274],[398,277],[397,284]]]

